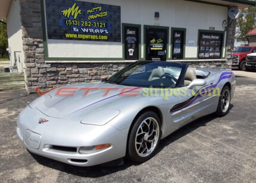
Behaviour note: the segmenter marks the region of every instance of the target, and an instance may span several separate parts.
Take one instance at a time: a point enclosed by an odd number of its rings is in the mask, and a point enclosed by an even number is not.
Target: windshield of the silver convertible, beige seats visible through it
[[[145,88],[176,88],[186,64],[174,62],[135,62],[103,82]]]

